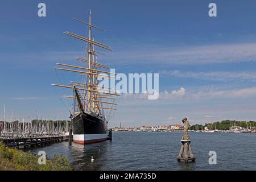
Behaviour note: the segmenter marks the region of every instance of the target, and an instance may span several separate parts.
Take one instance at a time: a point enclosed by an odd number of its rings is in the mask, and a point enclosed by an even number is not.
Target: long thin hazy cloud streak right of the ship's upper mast
[[[135,47],[107,57],[109,63],[215,64],[256,61],[256,43],[214,44],[183,47]],[[131,54],[130,52],[133,52]],[[118,60],[118,61],[117,61]]]

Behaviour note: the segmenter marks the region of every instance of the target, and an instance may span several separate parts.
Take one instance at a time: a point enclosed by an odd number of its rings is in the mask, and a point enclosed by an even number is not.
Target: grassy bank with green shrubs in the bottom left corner
[[[70,171],[72,167],[63,156],[55,155],[46,164],[38,164],[39,156],[6,147],[0,142],[0,170],[19,171]]]

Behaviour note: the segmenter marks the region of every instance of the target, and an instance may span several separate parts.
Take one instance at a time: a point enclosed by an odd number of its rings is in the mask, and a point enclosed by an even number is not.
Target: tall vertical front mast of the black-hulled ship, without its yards
[[[91,14],[89,14],[89,47],[88,47],[88,68],[89,68],[89,73],[88,73],[88,84],[89,84],[89,90],[88,90],[88,109],[89,109],[89,111],[90,111],[90,76],[91,76],[91,74],[90,74],[90,66],[91,66],[91,60],[90,60],[90,58],[91,58],[91,54],[92,54],[92,48],[91,48],[91,46],[92,46],[92,44],[91,44],[91,39],[92,39],[92,26],[91,26],[91,23],[90,23],[90,19],[91,19]]]

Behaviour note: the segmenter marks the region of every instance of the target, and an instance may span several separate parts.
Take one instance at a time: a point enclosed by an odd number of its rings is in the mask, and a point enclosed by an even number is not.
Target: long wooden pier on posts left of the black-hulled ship
[[[65,134],[19,134],[1,133],[0,142],[8,147],[32,147],[47,143],[68,141],[69,135]]]

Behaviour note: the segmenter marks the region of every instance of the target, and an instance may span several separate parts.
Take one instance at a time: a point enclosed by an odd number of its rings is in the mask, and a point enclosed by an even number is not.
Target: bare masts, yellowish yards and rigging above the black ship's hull
[[[80,111],[90,111],[99,115],[104,114],[103,110],[101,112],[101,109],[111,109],[115,110],[113,107],[105,107],[102,106],[103,104],[109,104],[109,105],[117,105],[113,102],[110,101],[104,101],[102,99],[108,99],[108,100],[114,100],[114,96],[121,96],[120,94],[116,94],[115,90],[111,88],[107,88],[105,85],[102,88],[98,88],[98,75],[100,73],[106,73],[104,75],[101,75],[102,77],[106,78],[117,78],[116,73],[112,73],[109,71],[109,67],[100,63],[97,63],[97,53],[104,55],[104,53],[97,52],[96,47],[104,48],[108,51],[112,51],[112,49],[109,46],[106,46],[105,44],[102,44],[100,42],[96,42],[94,40],[94,36],[92,34],[92,28],[96,28],[97,30],[100,31],[105,31],[99,27],[96,27],[92,24],[92,15],[91,11],[89,13],[89,23],[86,23],[82,20],[73,18],[74,20],[77,20],[80,23],[86,24],[86,26],[89,26],[89,37],[85,38],[83,36],[73,34],[72,32],[64,32],[64,34],[72,36],[73,38],[82,40],[83,42],[88,43],[88,47],[86,49],[86,53],[88,55],[88,59],[82,58],[82,57],[76,57],[75,59],[78,61],[81,61],[82,63],[85,63],[86,65],[84,66],[78,66],[78,65],[70,65],[70,64],[61,64],[57,63],[58,67],[55,68],[57,70],[61,71],[68,71],[68,72],[76,72],[80,73],[82,75],[86,75],[88,80],[86,82],[81,81],[71,81],[69,85],[60,85],[60,84],[52,84],[53,86],[59,86],[62,88],[69,88],[69,89],[74,89],[75,90],[75,95],[76,97],[67,97],[67,98],[73,98],[79,102],[80,106]],[[87,66],[88,64],[88,66]],[[75,68],[75,69],[67,69],[67,68],[61,68],[61,67],[69,67],[69,68]],[[99,69],[101,68],[101,69]],[[104,70],[102,70],[104,69]],[[86,71],[84,71],[86,70]],[[78,90],[82,90],[82,94],[79,93]],[[83,102],[83,103],[82,103]],[[87,103],[87,104],[86,104]],[[86,109],[85,109],[85,104],[86,104]],[[82,107],[82,109],[81,109]]]

